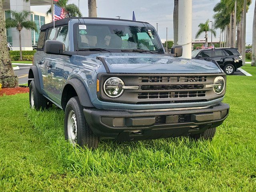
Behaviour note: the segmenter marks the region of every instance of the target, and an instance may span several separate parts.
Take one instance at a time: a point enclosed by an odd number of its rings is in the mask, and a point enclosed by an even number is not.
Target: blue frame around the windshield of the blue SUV
[[[150,53],[150,52],[154,52],[155,54],[164,54],[165,53],[165,50],[164,50],[164,47],[163,47],[163,45],[162,45],[162,42],[160,41],[160,38],[159,38],[159,36],[158,36],[158,34],[157,34],[157,32],[156,32],[156,30],[154,29],[154,27],[153,26],[148,26],[148,25],[146,25],[146,24],[141,24],[140,26],[138,26],[137,24],[136,25],[131,25],[131,24],[127,24],[127,23],[124,23],[124,24],[120,24],[120,23],[116,23],[116,24],[98,24],[98,23],[90,23],[90,22],[88,22],[88,23],[85,23],[85,22],[81,22],[81,23],[78,23],[78,22],[76,22],[76,23],[74,23],[74,25],[73,25],[73,40],[74,40],[74,51],[79,51],[79,52],[91,52],[90,50],[78,50],[78,35],[76,35],[76,34],[78,34],[78,25],[120,25],[120,26],[137,26],[137,27],[143,27],[143,28],[146,28],[147,30],[151,30],[151,32],[154,32],[154,38],[155,38],[155,41],[157,42],[157,44],[159,45],[159,47],[160,47],[160,49],[159,50],[148,50],[149,52],[148,53]],[[88,48],[90,48],[90,47],[88,47]],[[102,49],[106,49],[106,50],[108,50],[108,51],[110,51],[110,52],[118,52],[118,53],[120,53],[120,52],[122,52],[122,50],[124,49],[124,48],[106,48],[106,47],[95,47],[95,48],[102,48]],[[131,50],[131,52],[134,52],[134,50],[133,49],[130,49]],[[106,51],[106,52],[108,52],[108,51]],[[96,52],[95,50],[93,51],[93,52]],[[99,52],[104,52],[104,50],[99,50]],[[140,53],[140,52],[138,52],[138,53]],[[145,52],[144,52],[145,53]]]

